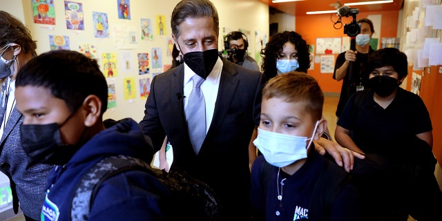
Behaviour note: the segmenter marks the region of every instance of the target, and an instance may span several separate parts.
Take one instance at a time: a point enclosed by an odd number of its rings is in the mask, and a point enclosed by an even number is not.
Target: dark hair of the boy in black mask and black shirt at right
[[[364,71],[368,76],[375,68],[382,68],[385,66],[392,66],[396,73],[398,73],[398,79],[402,79],[408,74],[407,55],[397,48],[382,48],[375,50],[368,57]]]

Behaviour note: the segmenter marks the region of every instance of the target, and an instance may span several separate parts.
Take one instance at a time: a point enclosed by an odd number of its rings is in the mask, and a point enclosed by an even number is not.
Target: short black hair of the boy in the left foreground
[[[71,113],[88,95],[102,100],[107,109],[108,86],[97,61],[72,50],[52,50],[28,61],[17,73],[15,86],[42,86],[63,99]]]

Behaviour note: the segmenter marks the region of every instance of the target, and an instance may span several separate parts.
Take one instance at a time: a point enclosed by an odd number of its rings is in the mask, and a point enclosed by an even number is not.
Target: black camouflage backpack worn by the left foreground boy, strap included
[[[90,206],[102,182],[125,171],[145,171],[160,180],[171,192],[171,220],[217,220],[220,210],[213,190],[184,171],[153,169],[146,162],[124,155],[105,157],[83,175],[72,200],[72,220],[88,220]],[[173,217],[175,216],[175,217]]]

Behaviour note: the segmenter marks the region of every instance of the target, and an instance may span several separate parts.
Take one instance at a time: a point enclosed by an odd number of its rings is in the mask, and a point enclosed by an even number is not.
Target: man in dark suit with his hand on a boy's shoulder
[[[140,125],[156,151],[167,135],[173,146],[171,170],[186,171],[209,184],[223,206],[224,220],[245,220],[249,218],[248,145],[260,121],[265,79],[258,71],[218,56],[219,19],[211,1],[180,1],[171,26],[184,65],[153,78]],[[187,123],[194,75],[205,79],[200,88],[206,108],[206,136],[196,153]]]

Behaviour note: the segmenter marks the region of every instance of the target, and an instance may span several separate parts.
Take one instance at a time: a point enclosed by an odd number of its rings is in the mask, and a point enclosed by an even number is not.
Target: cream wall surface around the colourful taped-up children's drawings
[[[144,104],[146,99],[140,98],[140,88],[138,80],[148,77],[152,79],[152,73],[162,73],[163,68],[153,70],[151,48],[162,48],[162,64],[171,64],[171,56],[166,55],[166,40],[171,37],[170,17],[173,8],[179,0],[130,0],[131,19],[118,19],[117,0],[75,0],[82,3],[84,10],[85,30],[68,30],[66,28],[64,1],[55,1],[55,26],[34,23],[32,18],[31,0],[1,0],[0,10],[6,10],[12,15],[24,20],[26,26],[31,30],[32,37],[37,40],[37,54],[50,50],[49,35],[68,35],[70,40],[70,50],[79,50],[79,44],[95,44],[97,48],[97,57],[101,66],[101,56],[103,52],[115,52],[117,55],[117,76],[108,77],[108,84],[115,84],[117,95],[117,106],[104,113],[104,119],[122,119],[132,117],[139,122],[144,116]],[[127,0],[126,0],[127,1]],[[248,30],[249,54],[256,57],[256,52],[260,50],[256,44],[256,32],[269,35],[269,7],[267,4],[256,0],[212,0],[220,16],[220,39],[218,41],[219,49],[224,47],[222,44],[223,28],[225,30]],[[112,3],[110,3],[112,2]],[[233,7],[234,6],[234,7]],[[105,12],[108,15],[110,38],[100,39],[93,35],[92,12]],[[151,19],[152,25],[155,25],[156,15],[166,17],[166,35],[156,35],[156,27],[153,30],[153,41],[142,41],[140,31],[140,19]],[[24,19],[23,19],[24,18]],[[120,50],[115,45],[113,30],[115,27],[127,27],[128,30],[137,31],[137,44],[133,49]],[[257,49],[258,48],[258,49]],[[122,68],[121,52],[131,52],[132,70],[124,71]],[[137,53],[148,52],[150,73],[148,75],[138,75]],[[259,62],[259,61],[258,61]],[[259,63],[258,63],[259,64]],[[63,73],[60,73],[63,74]],[[124,77],[135,77],[135,99],[124,99]]]

